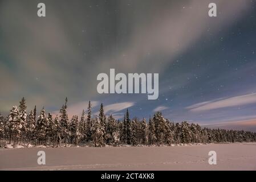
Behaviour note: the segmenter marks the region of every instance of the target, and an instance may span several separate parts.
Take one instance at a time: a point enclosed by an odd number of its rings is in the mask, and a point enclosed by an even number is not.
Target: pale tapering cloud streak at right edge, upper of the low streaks
[[[219,98],[218,100],[200,102],[198,104],[188,106],[186,109],[189,109],[190,111],[206,111],[254,103],[256,103],[256,93],[251,93],[230,98]]]

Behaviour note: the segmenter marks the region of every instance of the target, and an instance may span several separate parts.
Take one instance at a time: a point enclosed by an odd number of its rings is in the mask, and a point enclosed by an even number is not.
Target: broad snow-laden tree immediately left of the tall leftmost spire
[[[22,133],[21,115],[19,113],[17,106],[13,106],[13,108],[10,110],[8,121],[10,132],[10,144],[13,140],[14,146],[16,146],[18,144],[18,140],[21,138]]]

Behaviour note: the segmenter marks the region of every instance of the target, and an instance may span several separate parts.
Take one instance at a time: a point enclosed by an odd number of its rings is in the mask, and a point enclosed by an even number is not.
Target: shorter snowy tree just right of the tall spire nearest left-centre
[[[70,123],[70,132],[71,132],[71,143],[74,142],[75,146],[78,146],[80,137],[82,136],[79,131],[78,116],[74,115]]]

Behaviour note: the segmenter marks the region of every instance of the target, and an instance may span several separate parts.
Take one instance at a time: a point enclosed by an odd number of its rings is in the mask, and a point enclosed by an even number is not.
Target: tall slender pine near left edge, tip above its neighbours
[[[19,102],[19,113],[21,118],[21,137],[20,139],[26,139],[26,126],[27,126],[27,106],[26,106],[26,100],[24,97],[22,97],[22,100]],[[21,142],[21,141],[20,141]]]

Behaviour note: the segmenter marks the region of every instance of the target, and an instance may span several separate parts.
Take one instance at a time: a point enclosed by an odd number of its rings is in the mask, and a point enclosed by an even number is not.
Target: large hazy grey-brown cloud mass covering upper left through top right
[[[221,14],[209,18],[209,2],[61,1],[60,6],[46,0],[46,18],[38,18],[36,1],[1,1],[0,79],[7,86],[0,89],[5,96],[0,107],[22,96],[39,97],[36,105],[46,107],[61,105],[66,96],[97,100],[96,76],[109,68],[160,73],[207,30],[218,34],[250,7],[250,1],[216,0]]]

